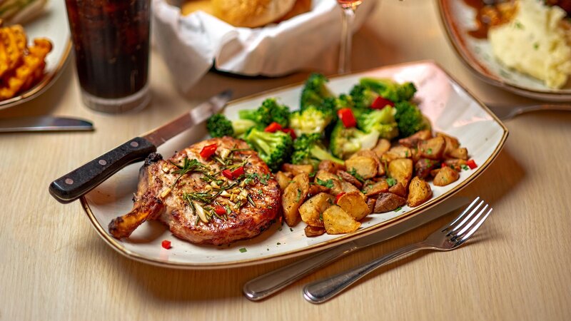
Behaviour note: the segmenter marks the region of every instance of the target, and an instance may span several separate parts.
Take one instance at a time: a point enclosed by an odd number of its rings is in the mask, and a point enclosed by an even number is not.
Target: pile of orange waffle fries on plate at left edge
[[[46,38],[28,46],[20,25],[0,28],[0,100],[12,98],[38,83],[44,76],[45,58],[52,49]]]

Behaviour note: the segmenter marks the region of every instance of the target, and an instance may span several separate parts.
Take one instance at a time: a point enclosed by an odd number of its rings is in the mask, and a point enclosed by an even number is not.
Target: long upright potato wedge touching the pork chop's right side
[[[309,192],[309,176],[306,173],[295,175],[282,195],[283,218],[285,223],[293,226],[298,221],[299,207]]]

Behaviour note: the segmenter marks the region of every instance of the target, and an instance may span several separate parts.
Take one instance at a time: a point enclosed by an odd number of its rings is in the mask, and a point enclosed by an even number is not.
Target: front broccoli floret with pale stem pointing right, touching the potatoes
[[[310,164],[317,168],[320,161],[334,161],[343,164],[339,158],[331,155],[323,143],[321,143],[321,134],[303,134],[293,142],[293,156],[291,162],[294,164]]]

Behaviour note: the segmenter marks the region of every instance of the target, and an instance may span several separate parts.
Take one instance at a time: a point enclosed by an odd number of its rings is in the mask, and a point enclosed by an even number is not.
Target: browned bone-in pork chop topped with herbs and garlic
[[[111,221],[109,224],[111,235],[116,238],[127,237],[146,219],[157,219],[168,225],[173,235],[178,238],[188,240],[191,243],[219,245],[244,238],[253,238],[268,228],[276,220],[278,210],[281,208],[281,191],[276,179],[271,175],[268,165],[263,163],[254,151],[234,151],[227,157],[233,158],[234,165],[239,165],[247,159],[243,166],[246,177],[257,176],[256,178],[244,182],[245,178],[228,180],[228,178],[218,174],[216,180],[224,181],[218,186],[219,188],[231,184],[236,184],[236,186],[226,190],[225,195],[218,195],[213,198],[211,204],[196,199],[191,200],[194,202],[194,206],[188,203],[188,195],[190,194],[215,194],[213,191],[216,190],[216,187],[213,188],[211,182],[203,179],[205,174],[201,170],[206,170],[207,173],[220,173],[224,167],[228,167],[228,165],[222,165],[213,159],[204,160],[201,158],[200,152],[203,147],[213,143],[218,145],[216,152],[218,156],[224,149],[248,148],[244,141],[235,138],[212,138],[189,146],[176,153],[168,161],[156,159],[153,160],[156,161],[155,163],[144,165],[139,174],[133,210]],[[179,168],[173,164],[183,165],[185,158],[196,159],[205,167],[178,178],[179,174],[175,172]],[[241,202],[243,205],[236,208],[236,200],[232,200],[233,197],[228,195],[235,194],[233,191],[241,192],[243,195],[247,193],[256,206],[252,205],[250,200],[243,199]],[[220,217],[210,215],[208,223],[203,222],[198,216],[197,211],[199,209],[196,205],[208,209],[215,204],[221,205],[223,208],[230,208],[231,213],[219,215]]]

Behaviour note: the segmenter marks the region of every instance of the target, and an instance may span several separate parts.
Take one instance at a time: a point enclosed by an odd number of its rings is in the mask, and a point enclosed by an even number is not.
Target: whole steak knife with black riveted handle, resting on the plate
[[[80,198],[121,168],[137,161],[143,161],[148,154],[156,152],[156,148],[168,139],[192,126],[203,123],[214,113],[221,111],[231,96],[232,91],[229,90],[218,93],[173,121],[113,148],[51,182],[49,193],[64,204]]]

